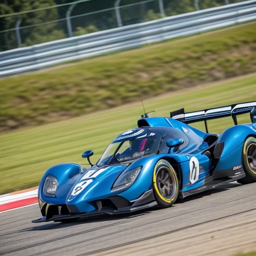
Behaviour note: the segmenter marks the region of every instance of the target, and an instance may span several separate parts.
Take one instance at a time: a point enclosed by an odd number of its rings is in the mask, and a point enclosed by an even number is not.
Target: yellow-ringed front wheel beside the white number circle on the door
[[[178,196],[178,178],[170,163],[160,159],[154,166],[152,180],[154,198],[161,208],[170,207]]]

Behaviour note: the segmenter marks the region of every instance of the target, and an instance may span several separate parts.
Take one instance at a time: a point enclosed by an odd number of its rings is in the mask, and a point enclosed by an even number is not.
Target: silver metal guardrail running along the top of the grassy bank
[[[256,0],[0,52],[0,76],[256,20]]]

